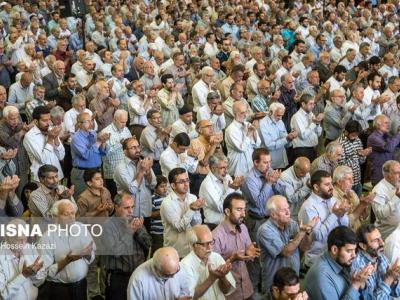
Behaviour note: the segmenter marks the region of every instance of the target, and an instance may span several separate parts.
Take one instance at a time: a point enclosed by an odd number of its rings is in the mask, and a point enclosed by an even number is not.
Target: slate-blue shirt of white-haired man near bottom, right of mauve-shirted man
[[[272,286],[272,274],[275,274],[280,268],[289,267],[297,274],[299,273],[299,249],[297,248],[290,256],[281,255],[283,248],[295,238],[298,232],[299,226],[293,220],[290,220],[283,230],[271,218],[258,228],[257,241],[261,248],[261,283],[264,293],[269,291]]]

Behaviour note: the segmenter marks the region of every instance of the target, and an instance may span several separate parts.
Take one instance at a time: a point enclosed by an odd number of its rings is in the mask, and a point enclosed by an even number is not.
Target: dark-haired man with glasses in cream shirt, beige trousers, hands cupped
[[[183,258],[190,252],[188,232],[201,223],[200,209],[205,201],[189,193],[189,176],[185,169],[172,169],[168,181],[172,191],[164,198],[160,210],[164,246],[174,247]]]

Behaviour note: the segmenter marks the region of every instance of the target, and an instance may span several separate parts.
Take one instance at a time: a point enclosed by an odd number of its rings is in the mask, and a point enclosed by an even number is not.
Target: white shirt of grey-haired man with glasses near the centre
[[[235,192],[229,187],[231,182],[232,177],[229,174],[220,180],[212,172],[209,172],[204,178],[200,185],[199,197],[206,201],[203,208],[205,223],[219,224],[224,219],[224,199]]]

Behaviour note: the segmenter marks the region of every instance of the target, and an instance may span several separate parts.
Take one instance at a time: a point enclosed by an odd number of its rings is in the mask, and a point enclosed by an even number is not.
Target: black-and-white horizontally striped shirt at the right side
[[[365,157],[358,154],[359,150],[363,150],[361,140],[356,138],[350,141],[343,133],[338,142],[343,147],[343,154],[339,160],[339,165],[345,165],[353,170],[353,184],[361,183],[361,164],[365,162]]]

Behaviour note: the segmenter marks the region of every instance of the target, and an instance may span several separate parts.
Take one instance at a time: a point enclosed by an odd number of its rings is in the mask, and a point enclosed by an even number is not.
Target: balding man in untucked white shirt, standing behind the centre
[[[261,144],[255,126],[245,121],[247,106],[238,101],[233,104],[235,119],[225,131],[225,143],[228,149],[229,174],[240,176],[247,174],[252,167],[253,149]]]

